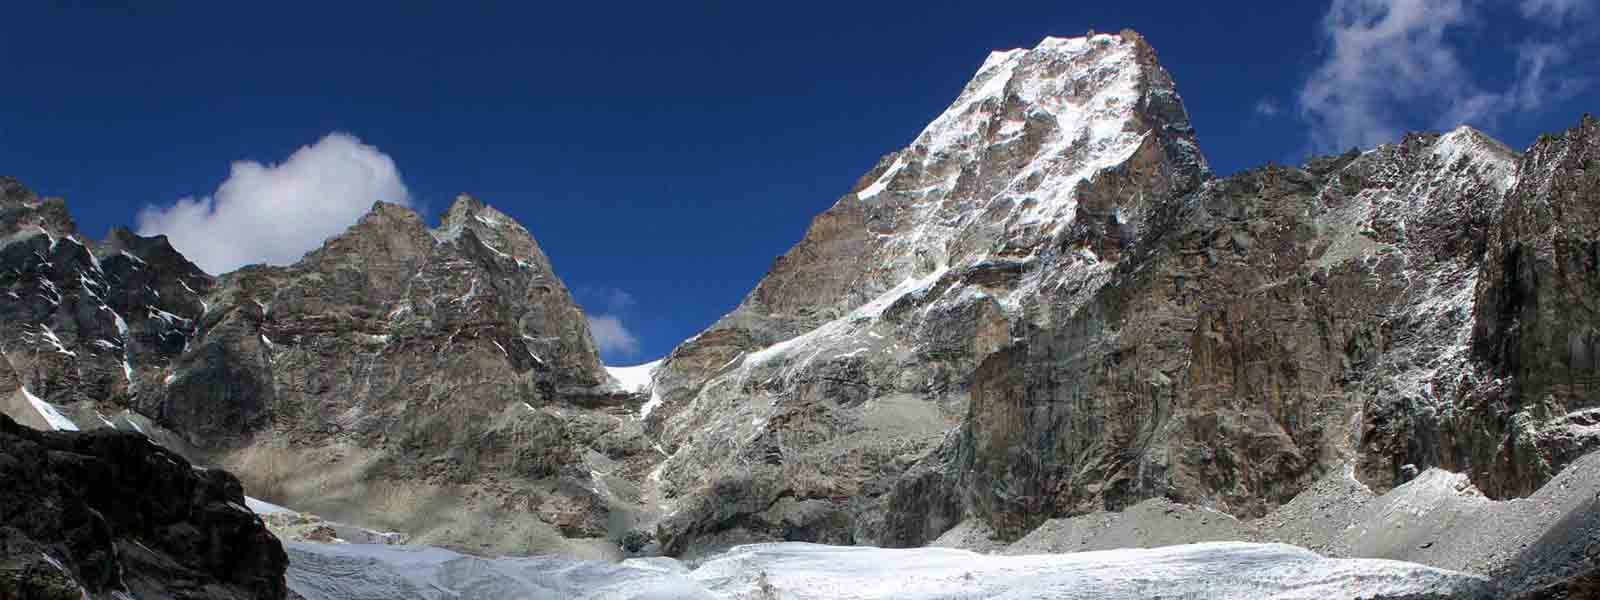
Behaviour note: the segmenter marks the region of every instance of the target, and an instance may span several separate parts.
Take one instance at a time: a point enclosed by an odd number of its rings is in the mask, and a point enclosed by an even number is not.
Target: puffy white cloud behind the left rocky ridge
[[[139,211],[139,235],[165,234],[211,274],[291,264],[362,218],[373,202],[411,203],[389,155],[344,133],[278,165],[235,162],[214,194]]]

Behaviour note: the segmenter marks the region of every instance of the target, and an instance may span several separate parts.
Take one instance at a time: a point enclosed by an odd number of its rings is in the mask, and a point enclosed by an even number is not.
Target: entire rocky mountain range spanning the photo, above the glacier
[[[1462,126],[1216,178],[1141,35],[1045,38],[622,370],[472,197],[211,277],[0,179],[0,387],[29,426],[138,429],[464,552],[1056,552],[1165,523],[1560,594],[1600,557],[1562,533],[1600,493],[1568,469],[1600,446],[1597,160],[1584,117],[1525,152]]]

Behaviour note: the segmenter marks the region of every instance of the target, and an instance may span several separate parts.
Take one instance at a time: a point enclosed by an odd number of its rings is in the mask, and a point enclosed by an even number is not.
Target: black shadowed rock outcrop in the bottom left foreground
[[[283,598],[288,555],[234,475],[144,435],[0,414],[0,597]]]

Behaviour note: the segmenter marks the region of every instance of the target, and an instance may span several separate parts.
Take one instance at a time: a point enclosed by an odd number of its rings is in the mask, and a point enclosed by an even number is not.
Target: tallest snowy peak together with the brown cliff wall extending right
[[[1147,498],[1259,517],[1339,469],[1531,493],[1597,440],[1592,131],[1210,179],[1136,34],[995,53],[654,371],[659,534],[1016,539]]]

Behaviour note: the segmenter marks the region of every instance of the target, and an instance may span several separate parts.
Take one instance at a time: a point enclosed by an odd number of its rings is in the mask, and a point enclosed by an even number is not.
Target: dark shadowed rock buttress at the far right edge
[[[1490,496],[1523,496],[1600,445],[1600,122],[1541,136],[1490,237],[1459,451]]]

